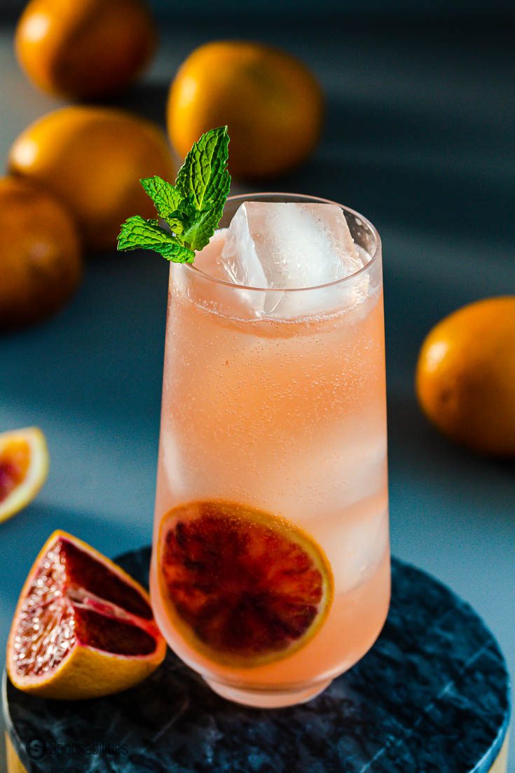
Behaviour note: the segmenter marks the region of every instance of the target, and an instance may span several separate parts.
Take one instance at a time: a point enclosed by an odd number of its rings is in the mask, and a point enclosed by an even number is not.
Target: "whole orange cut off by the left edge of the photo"
[[[79,236],[63,204],[26,180],[0,179],[0,330],[52,315],[81,276]]]

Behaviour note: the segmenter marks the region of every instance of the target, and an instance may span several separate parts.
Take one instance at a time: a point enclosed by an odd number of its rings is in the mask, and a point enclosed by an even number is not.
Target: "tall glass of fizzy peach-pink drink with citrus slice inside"
[[[227,200],[172,264],[151,593],[169,645],[220,695],[309,700],[373,644],[390,600],[380,237],[341,207],[364,266],[244,288],[220,265]]]

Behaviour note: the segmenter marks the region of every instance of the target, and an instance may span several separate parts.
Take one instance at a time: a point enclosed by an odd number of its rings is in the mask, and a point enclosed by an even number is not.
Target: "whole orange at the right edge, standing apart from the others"
[[[421,348],[416,389],[448,437],[515,456],[515,296],[477,301],[439,322]]]

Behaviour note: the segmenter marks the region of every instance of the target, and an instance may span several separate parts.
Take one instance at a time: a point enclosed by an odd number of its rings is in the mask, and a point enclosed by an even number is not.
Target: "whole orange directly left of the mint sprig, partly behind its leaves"
[[[140,179],[175,175],[161,129],[106,107],[63,107],[39,118],[12,145],[9,169],[66,202],[94,249],[114,248],[128,216],[155,217]]]

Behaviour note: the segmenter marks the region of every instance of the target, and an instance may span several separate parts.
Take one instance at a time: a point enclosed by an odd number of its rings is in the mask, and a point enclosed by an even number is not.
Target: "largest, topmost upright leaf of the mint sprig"
[[[196,209],[223,208],[230,186],[227,126],[207,131],[184,159],[176,179],[183,199],[192,196]]]

